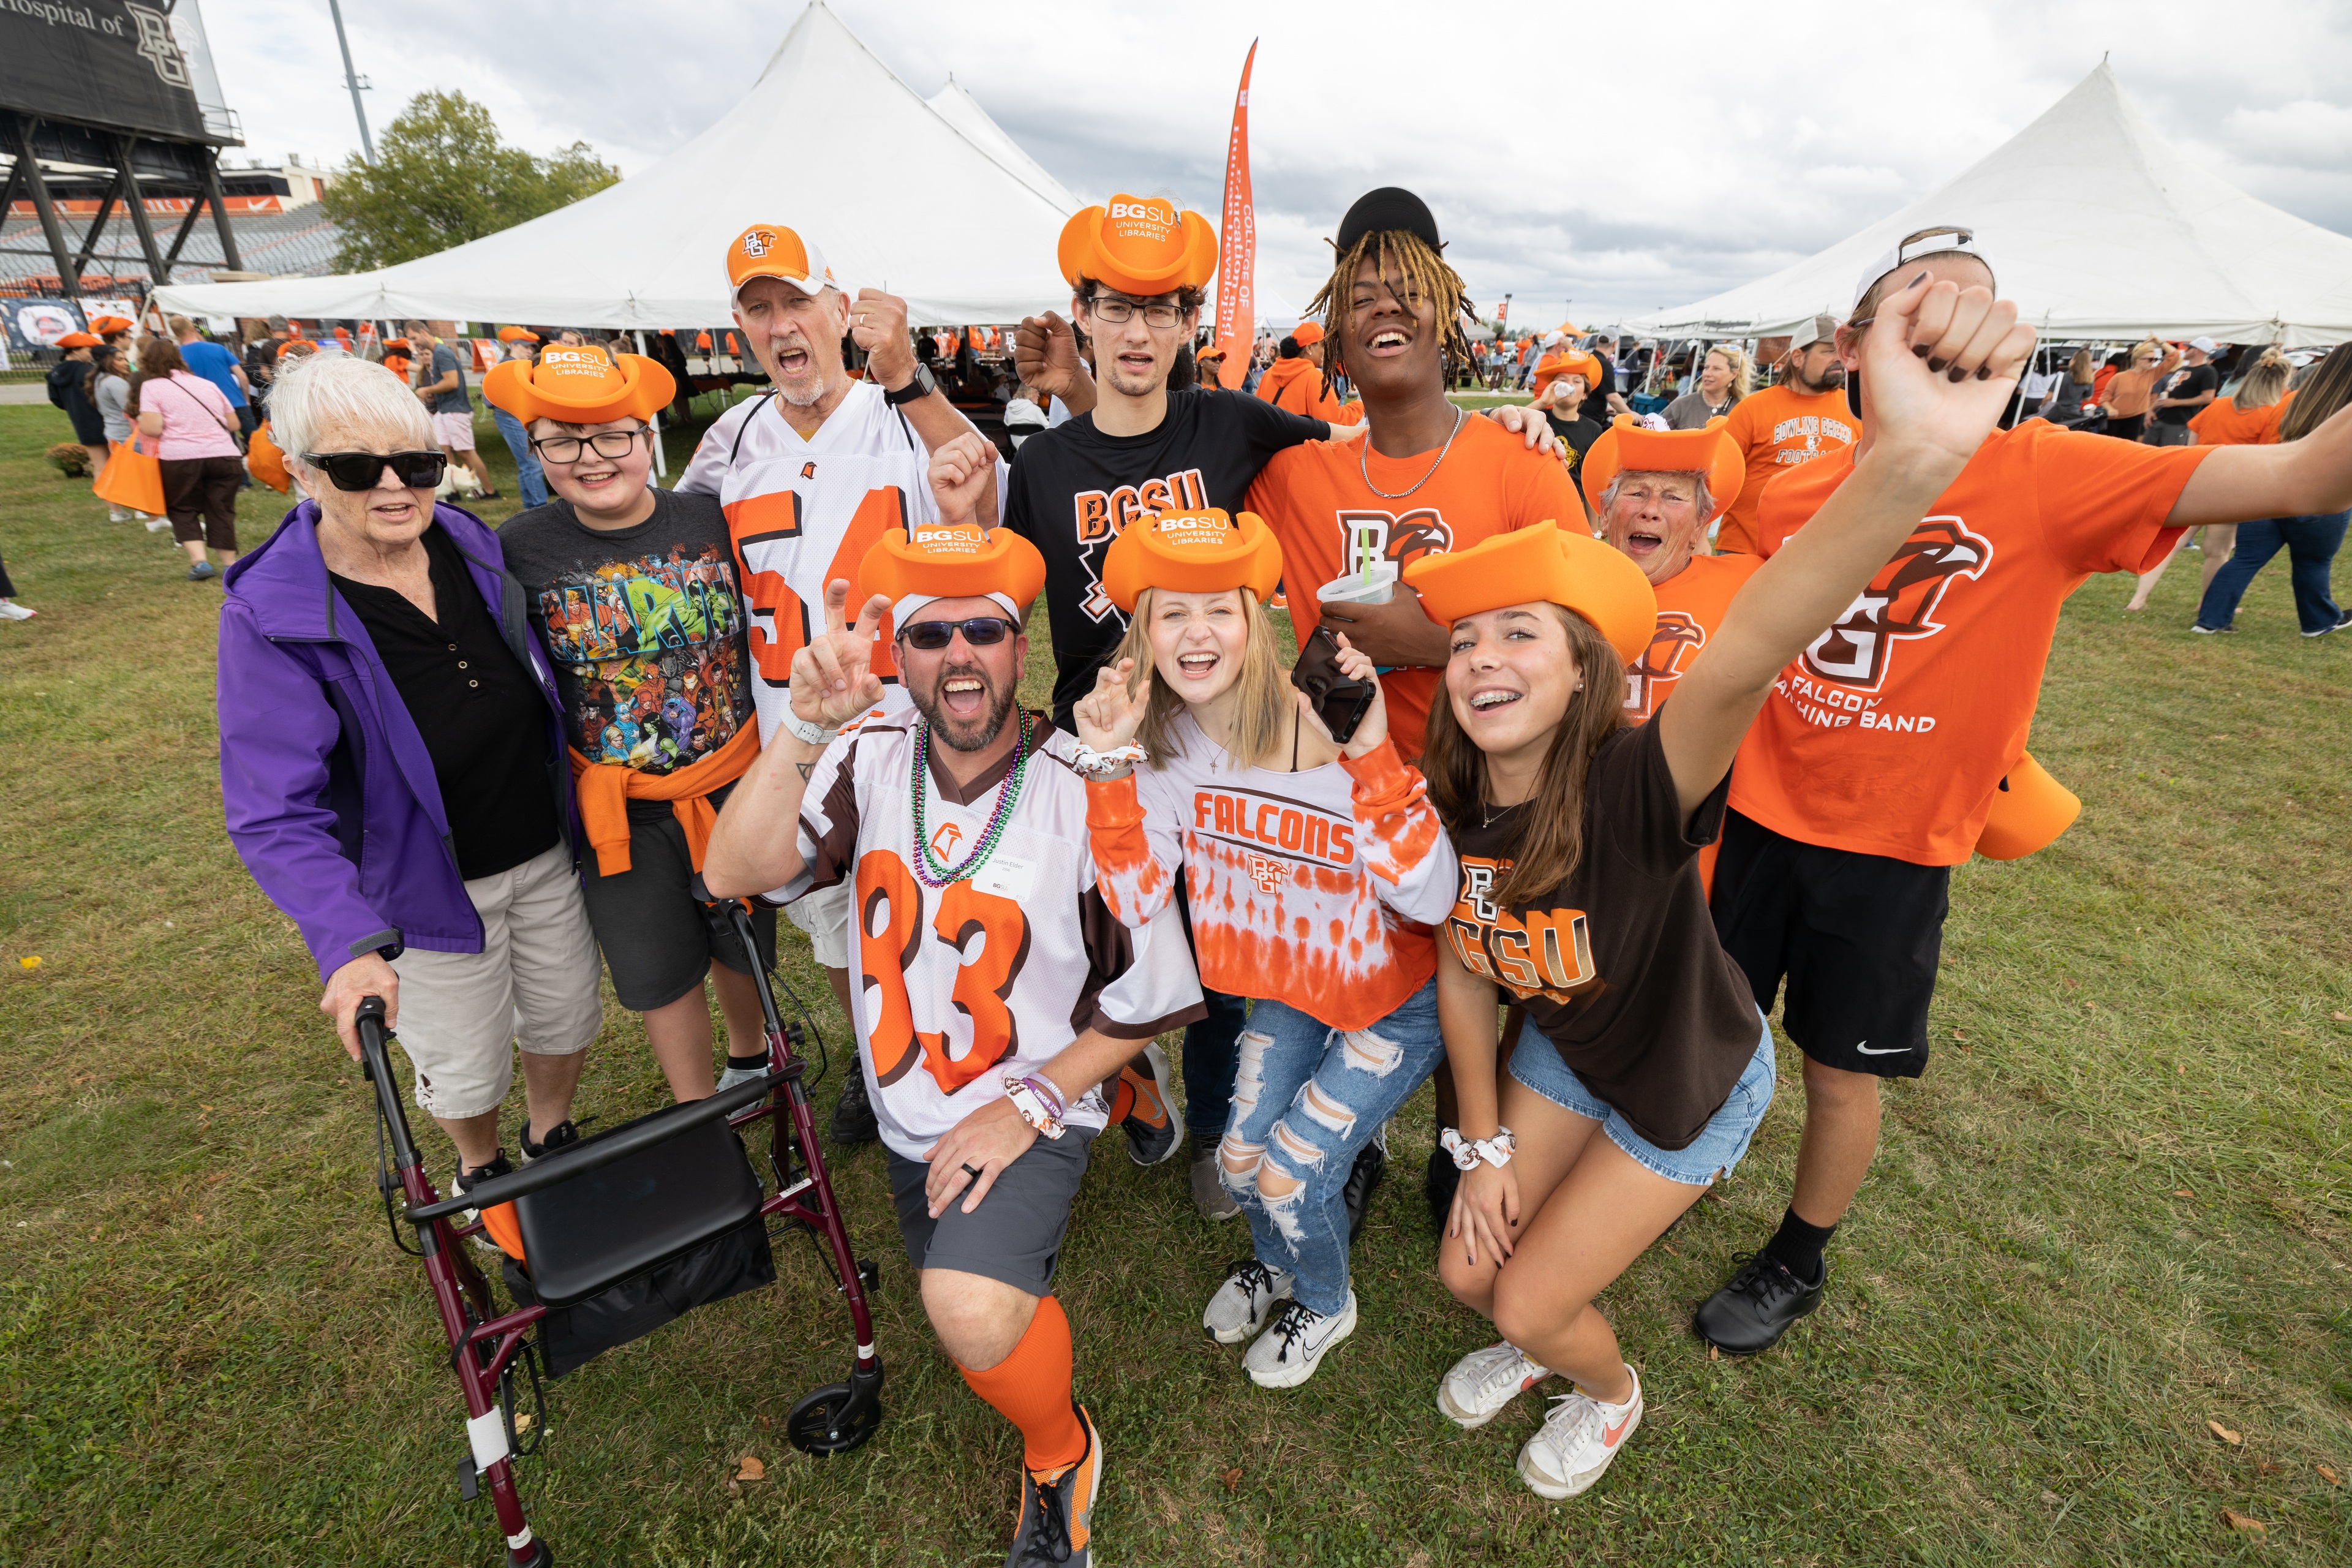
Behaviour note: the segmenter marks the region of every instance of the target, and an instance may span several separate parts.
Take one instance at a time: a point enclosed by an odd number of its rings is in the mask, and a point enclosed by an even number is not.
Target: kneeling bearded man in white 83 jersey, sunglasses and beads
[[[993,456],[976,435],[931,456],[941,522],[873,545],[856,625],[849,583],[826,585],[826,635],[793,656],[790,715],[703,877],[720,896],[851,884],[858,1058],[898,1232],[941,1345],[1025,1448],[1007,1563],[1087,1563],[1103,1448],[1070,1396],[1054,1260],[1110,1114],[1103,1079],[1202,1004],[1174,907],[1127,931],[1096,893],[1073,771],[1094,757],[1018,708],[1044,559],[971,522]],[[915,712],[840,736],[880,701],[877,632]]]

